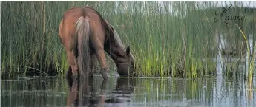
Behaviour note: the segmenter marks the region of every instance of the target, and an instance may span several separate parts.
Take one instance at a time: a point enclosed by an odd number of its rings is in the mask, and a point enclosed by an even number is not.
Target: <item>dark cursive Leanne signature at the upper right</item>
[[[217,14],[217,10],[215,11],[215,15],[217,15],[217,18],[214,18],[214,22],[217,22],[219,20],[224,21],[226,24],[233,24],[230,21],[243,21],[246,19],[245,16],[239,16],[239,15],[226,15],[226,17],[224,16],[224,14],[232,7],[232,5],[230,5],[229,7],[224,8],[223,12],[220,14]]]

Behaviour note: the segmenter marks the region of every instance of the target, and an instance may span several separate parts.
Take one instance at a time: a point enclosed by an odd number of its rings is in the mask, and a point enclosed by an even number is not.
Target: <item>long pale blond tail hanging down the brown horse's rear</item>
[[[79,73],[82,77],[89,75],[90,71],[90,47],[89,47],[89,37],[90,37],[90,25],[87,18],[81,16],[78,21],[76,21],[76,34],[78,41],[78,58],[77,63],[79,67]]]

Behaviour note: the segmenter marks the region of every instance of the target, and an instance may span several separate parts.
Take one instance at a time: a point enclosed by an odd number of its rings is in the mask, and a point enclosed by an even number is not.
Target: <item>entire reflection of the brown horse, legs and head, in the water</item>
[[[108,80],[102,80],[100,92],[94,87],[93,77],[84,80],[68,79],[67,106],[118,106],[129,102],[134,92],[135,80],[132,78],[117,78],[116,88],[109,95],[106,93]]]

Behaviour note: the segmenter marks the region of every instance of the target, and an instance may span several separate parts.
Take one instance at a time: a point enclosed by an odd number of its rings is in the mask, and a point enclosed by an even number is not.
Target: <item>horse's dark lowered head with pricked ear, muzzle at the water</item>
[[[119,58],[116,63],[117,72],[121,76],[128,76],[134,73],[134,56],[131,54],[130,46],[126,48],[125,56]]]

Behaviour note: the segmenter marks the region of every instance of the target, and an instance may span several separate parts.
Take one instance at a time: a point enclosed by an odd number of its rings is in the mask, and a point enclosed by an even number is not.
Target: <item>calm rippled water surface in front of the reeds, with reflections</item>
[[[239,77],[111,77],[103,81],[102,77],[94,76],[80,85],[76,81],[68,83],[65,77],[20,77],[1,80],[1,107],[253,107],[255,91],[246,89],[245,80]]]

